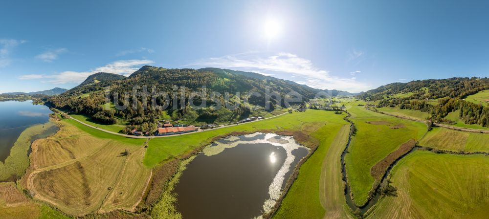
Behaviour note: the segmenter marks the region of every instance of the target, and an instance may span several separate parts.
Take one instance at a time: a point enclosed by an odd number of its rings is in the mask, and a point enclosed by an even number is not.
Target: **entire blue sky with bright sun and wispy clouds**
[[[488,1],[10,1],[0,93],[143,65],[249,70],[323,89],[489,75]]]

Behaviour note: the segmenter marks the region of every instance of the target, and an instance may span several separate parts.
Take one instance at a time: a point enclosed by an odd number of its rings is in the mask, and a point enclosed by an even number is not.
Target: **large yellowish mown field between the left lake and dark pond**
[[[61,121],[54,136],[34,142],[26,188],[34,198],[74,216],[133,209],[151,174],[142,165],[145,140],[101,138],[104,134],[97,132],[102,131],[89,128],[92,135],[71,121]]]

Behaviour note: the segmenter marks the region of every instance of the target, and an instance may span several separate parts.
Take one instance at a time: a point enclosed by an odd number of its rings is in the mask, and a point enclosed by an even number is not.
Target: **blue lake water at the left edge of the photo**
[[[31,125],[47,122],[49,113],[49,108],[33,105],[32,101],[0,101],[0,161],[8,157],[22,131]]]

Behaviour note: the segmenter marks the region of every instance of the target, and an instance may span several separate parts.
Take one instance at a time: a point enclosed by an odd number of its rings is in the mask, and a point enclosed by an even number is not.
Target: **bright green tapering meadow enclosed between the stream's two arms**
[[[362,205],[376,182],[371,169],[389,153],[411,139],[421,139],[427,128],[415,122],[366,110],[355,103],[348,111],[356,125],[356,135],[345,156],[346,172],[354,202]]]

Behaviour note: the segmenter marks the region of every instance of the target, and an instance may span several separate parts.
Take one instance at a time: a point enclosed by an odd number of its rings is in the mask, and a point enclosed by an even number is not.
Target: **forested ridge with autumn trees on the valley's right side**
[[[430,120],[454,124],[445,118],[458,111],[465,124],[489,127],[489,107],[466,101],[467,96],[489,89],[488,78],[449,78],[393,83],[358,95],[360,99],[377,101],[378,107],[399,107],[430,113]]]

